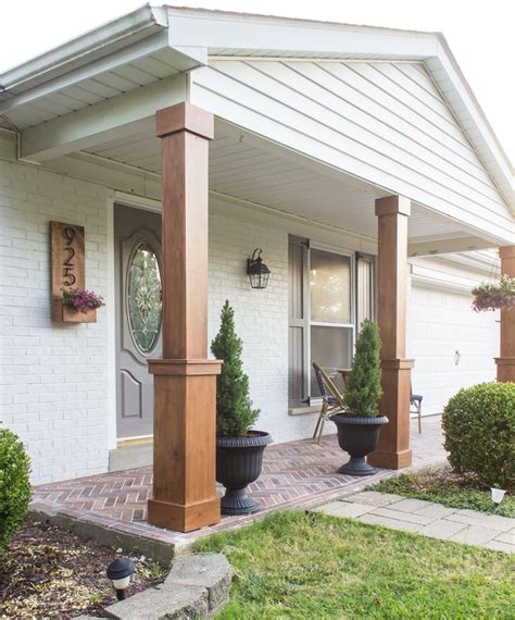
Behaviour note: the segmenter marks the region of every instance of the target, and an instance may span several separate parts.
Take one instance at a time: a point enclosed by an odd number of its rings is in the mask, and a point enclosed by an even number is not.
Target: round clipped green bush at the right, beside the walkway
[[[449,462],[500,488],[515,484],[515,383],[480,383],[453,396],[442,417]]]

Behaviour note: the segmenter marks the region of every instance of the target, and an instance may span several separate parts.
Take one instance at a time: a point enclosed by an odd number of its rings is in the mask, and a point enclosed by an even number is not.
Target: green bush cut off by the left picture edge
[[[22,442],[0,429],[0,557],[27,516],[30,461]]]

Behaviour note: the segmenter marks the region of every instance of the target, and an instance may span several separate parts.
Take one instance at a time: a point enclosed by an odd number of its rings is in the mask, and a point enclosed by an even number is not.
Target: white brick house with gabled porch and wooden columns
[[[1,418],[37,483],[106,471],[127,446],[143,462],[154,376],[156,396],[197,385],[213,418],[216,369],[197,362],[225,299],[276,442],[311,436],[311,363],[350,365],[364,317],[394,340],[404,398],[382,464],[410,460],[409,360],[428,414],[493,380],[494,358],[515,377],[513,323],[500,352],[499,317],[469,297],[497,248],[514,269],[512,168],[440,34],[145,7],[0,75],[0,214]],[[50,222],[84,227],[96,323],[52,320]],[[199,402],[173,407],[188,433]]]

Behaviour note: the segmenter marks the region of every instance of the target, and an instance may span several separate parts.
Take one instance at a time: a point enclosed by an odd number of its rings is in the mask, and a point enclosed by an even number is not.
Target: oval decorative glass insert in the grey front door
[[[126,301],[134,344],[148,354],[161,331],[162,285],[158,257],[147,241],[136,244],[129,259]]]

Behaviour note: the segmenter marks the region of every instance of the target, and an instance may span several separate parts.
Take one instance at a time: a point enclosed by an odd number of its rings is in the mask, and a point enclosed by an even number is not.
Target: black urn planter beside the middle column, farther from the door
[[[382,424],[388,422],[386,416],[377,418],[349,417],[336,413],[331,417],[338,429],[338,444],[351,457],[341,466],[338,473],[348,475],[372,475],[376,470],[365,461],[366,455],[374,451],[379,441]]]

